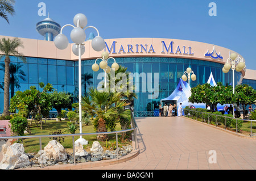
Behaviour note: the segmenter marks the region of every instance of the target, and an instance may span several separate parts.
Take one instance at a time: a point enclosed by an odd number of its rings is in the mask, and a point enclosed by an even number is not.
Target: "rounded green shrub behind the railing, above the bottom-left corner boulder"
[[[24,136],[24,131],[27,128],[26,117],[21,117],[21,116],[13,117],[12,119],[10,119],[10,123],[11,123],[11,132],[13,132],[13,136]]]

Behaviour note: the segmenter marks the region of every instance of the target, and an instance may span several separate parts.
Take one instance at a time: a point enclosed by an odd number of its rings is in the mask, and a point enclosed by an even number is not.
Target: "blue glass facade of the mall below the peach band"
[[[168,57],[118,57],[115,60],[119,65],[127,67],[131,73],[152,73],[152,80],[154,80],[154,73],[159,73],[158,98],[148,99],[148,94],[150,94],[148,90],[137,92],[138,99],[134,100],[135,116],[153,116],[156,105],[175,90],[179,79],[188,67],[194,71],[197,77],[196,81],[191,81],[191,87],[207,82],[210,72],[212,72],[216,82],[223,82],[224,85],[232,83],[232,71],[224,74],[222,72],[223,64],[217,62]],[[103,78],[97,79],[98,74],[102,72],[101,69],[97,72],[92,70],[94,62],[95,59],[82,61],[82,95],[89,90],[89,87],[97,87],[98,83],[103,80]],[[108,61],[110,66],[112,63],[113,60]],[[4,57],[0,60],[1,64],[4,64]],[[39,88],[38,83],[44,82],[51,83],[58,91],[69,92],[77,102],[79,90],[78,61],[27,57],[27,63],[23,63],[18,58],[11,57],[11,64],[16,66],[14,72],[16,82],[13,82],[13,90],[10,86],[10,92],[13,93],[10,95],[14,95],[17,90],[29,89],[31,85]],[[3,85],[3,78],[4,72],[0,70],[1,85]],[[235,71],[235,84],[240,84],[241,80],[242,74]],[[142,82],[140,83],[142,84]],[[3,112],[3,89],[0,88],[1,112]]]

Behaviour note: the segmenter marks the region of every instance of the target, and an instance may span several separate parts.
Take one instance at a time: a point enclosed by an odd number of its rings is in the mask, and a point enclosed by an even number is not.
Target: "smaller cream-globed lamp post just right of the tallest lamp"
[[[104,70],[104,89],[106,91],[107,87],[106,87],[106,74],[108,74],[110,72],[110,66],[108,66],[108,60],[109,59],[113,59],[114,63],[112,64],[111,68],[114,69],[115,71],[117,71],[119,69],[119,65],[117,64],[117,62],[115,62],[115,59],[113,57],[109,57],[109,53],[108,52],[102,52],[101,54],[102,58],[97,58],[94,62],[94,64],[92,65],[92,70],[93,71],[98,71],[100,68]],[[101,60],[100,62],[100,66],[96,63],[97,60]]]

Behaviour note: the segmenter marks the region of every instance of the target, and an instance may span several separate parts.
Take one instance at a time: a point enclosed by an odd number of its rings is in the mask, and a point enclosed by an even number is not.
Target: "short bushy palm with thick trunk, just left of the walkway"
[[[107,119],[127,117],[123,110],[127,102],[121,99],[122,95],[118,92],[101,92],[94,88],[89,89],[88,95],[82,97],[82,110],[91,117],[95,116],[94,128],[97,132],[107,132]],[[97,140],[105,141],[107,138],[108,134],[97,135]]]

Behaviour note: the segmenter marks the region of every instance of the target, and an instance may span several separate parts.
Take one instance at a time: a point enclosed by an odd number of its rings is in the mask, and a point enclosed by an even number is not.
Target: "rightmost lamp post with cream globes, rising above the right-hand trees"
[[[236,53],[231,53],[229,54],[229,58],[228,60],[226,60],[226,63],[224,64],[222,71],[224,73],[228,73],[230,68],[232,69],[232,79],[233,79],[233,94],[234,94],[234,70],[236,69],[236,71],[242,71],[243,68],[245,68],[245,61],[243,60],[243,58],[237,56]],[[234,117],[234,103],[233,103],[233,117]]]

